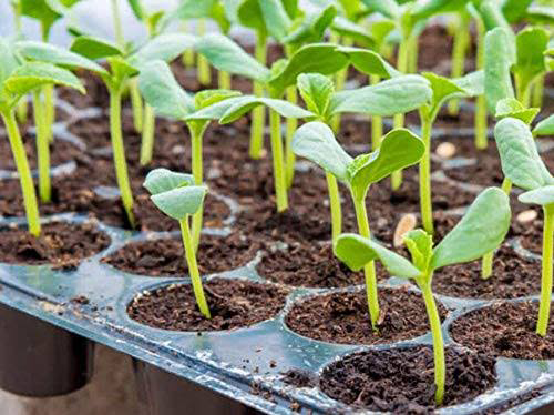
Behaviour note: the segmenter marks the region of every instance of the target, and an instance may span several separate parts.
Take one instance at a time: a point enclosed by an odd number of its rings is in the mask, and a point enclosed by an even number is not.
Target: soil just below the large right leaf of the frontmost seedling
[[[468,298],[516,298],[541,292],[541,263],[525,260],[503,245],[494,255],[493,274],[481,277],[481,261],[441,269],[433,292]]]

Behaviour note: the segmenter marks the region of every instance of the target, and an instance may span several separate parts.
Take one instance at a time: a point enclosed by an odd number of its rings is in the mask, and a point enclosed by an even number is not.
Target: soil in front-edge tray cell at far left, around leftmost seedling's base
[[[10,226],[0,232],[0,262],[63,267],[94,255],[109,244],[110,236],[92,223],[48,223],[42,226],[40,237],[32,236],[27,229]]]

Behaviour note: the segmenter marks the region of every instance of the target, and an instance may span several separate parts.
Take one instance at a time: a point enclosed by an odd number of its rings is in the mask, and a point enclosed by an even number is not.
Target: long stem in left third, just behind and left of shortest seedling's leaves
[[[112,138],[113,162],[115,176],[120,188],[123,208],[127,214],[129,224],[135,227],[133,214],[133,191],[129,181],[127,162],[125,160],[125,148],[121,129],[121,85],[109,88],[110,92],[110,135]]]

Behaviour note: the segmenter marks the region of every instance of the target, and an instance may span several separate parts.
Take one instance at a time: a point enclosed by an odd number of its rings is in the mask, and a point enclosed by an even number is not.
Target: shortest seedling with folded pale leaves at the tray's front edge
[[[191,215],[201,209],[207,188],[196,185],[191,174],[175,173],[167,169],[151,171],[144,181],[144,186],[152,194],[150,199],[157,209],[178,221],[196,305],[206,318],[211,318],[188,224]]]

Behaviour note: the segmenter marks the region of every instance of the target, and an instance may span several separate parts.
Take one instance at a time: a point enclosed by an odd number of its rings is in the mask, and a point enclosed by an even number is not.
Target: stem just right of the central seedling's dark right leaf
[[[425,144],[425,153],[419,162],[419,199],[421,208],[421,222],[429,234],[434,233],[433,206],[431,202],[431,121],[421,118],[421,139]]]

